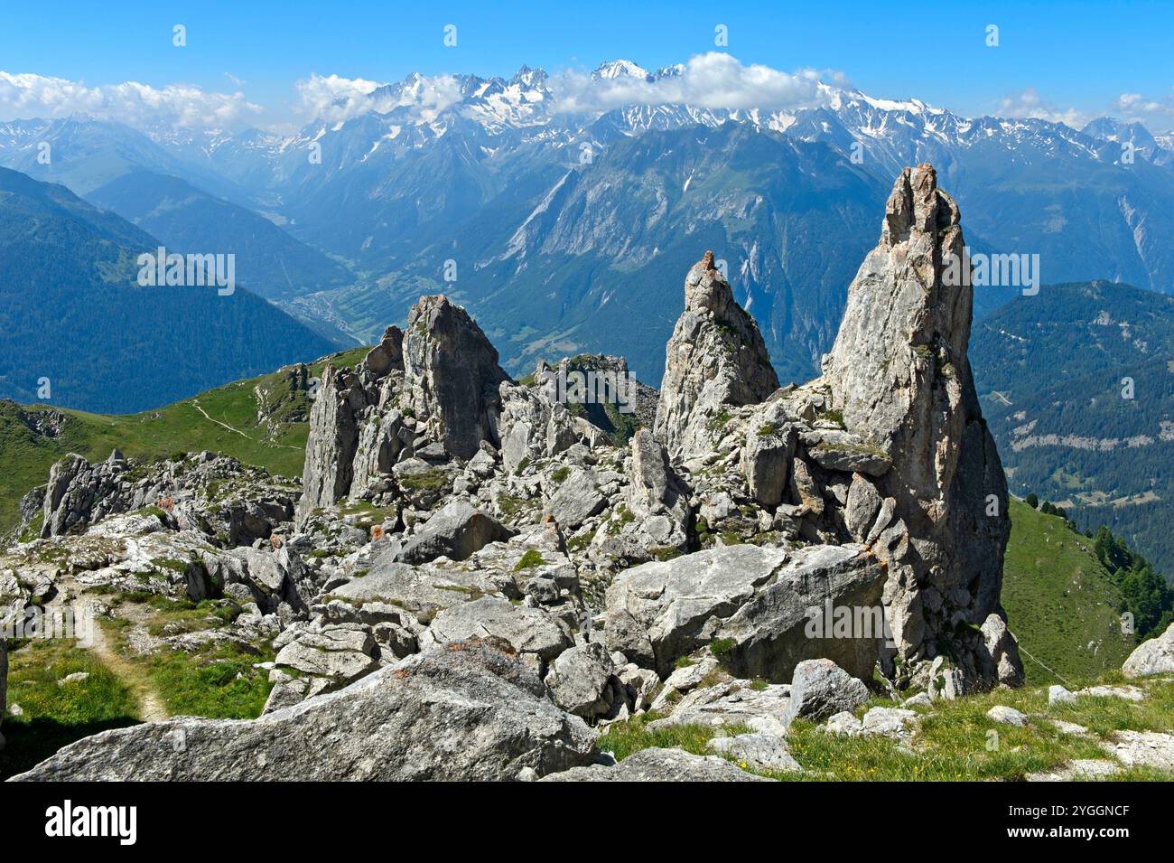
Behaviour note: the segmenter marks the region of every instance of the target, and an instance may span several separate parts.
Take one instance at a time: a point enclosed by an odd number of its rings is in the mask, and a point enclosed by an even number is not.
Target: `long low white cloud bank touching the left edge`
[[[243,93],[209,93],[194,85],[156,89],[135,81],[87,87],[81,81],[32,73],[0,72],[0,119],[62,117],[88,114],[144,129],[170,124],[191,129],[232,129],[261,112]]]

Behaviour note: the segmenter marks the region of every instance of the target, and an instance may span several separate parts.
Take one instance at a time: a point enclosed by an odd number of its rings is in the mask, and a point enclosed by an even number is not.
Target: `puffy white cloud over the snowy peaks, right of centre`
[[[761,63],[743,65],[721,52],[697,54],[676,74],[647,81],[621,75],[595,80],[576,72],[552,79],[561,110],[607,110],[625,104],[688,103],[701,108],[780,110],[822,104],[825,88],[815,69],[780,72]]]

